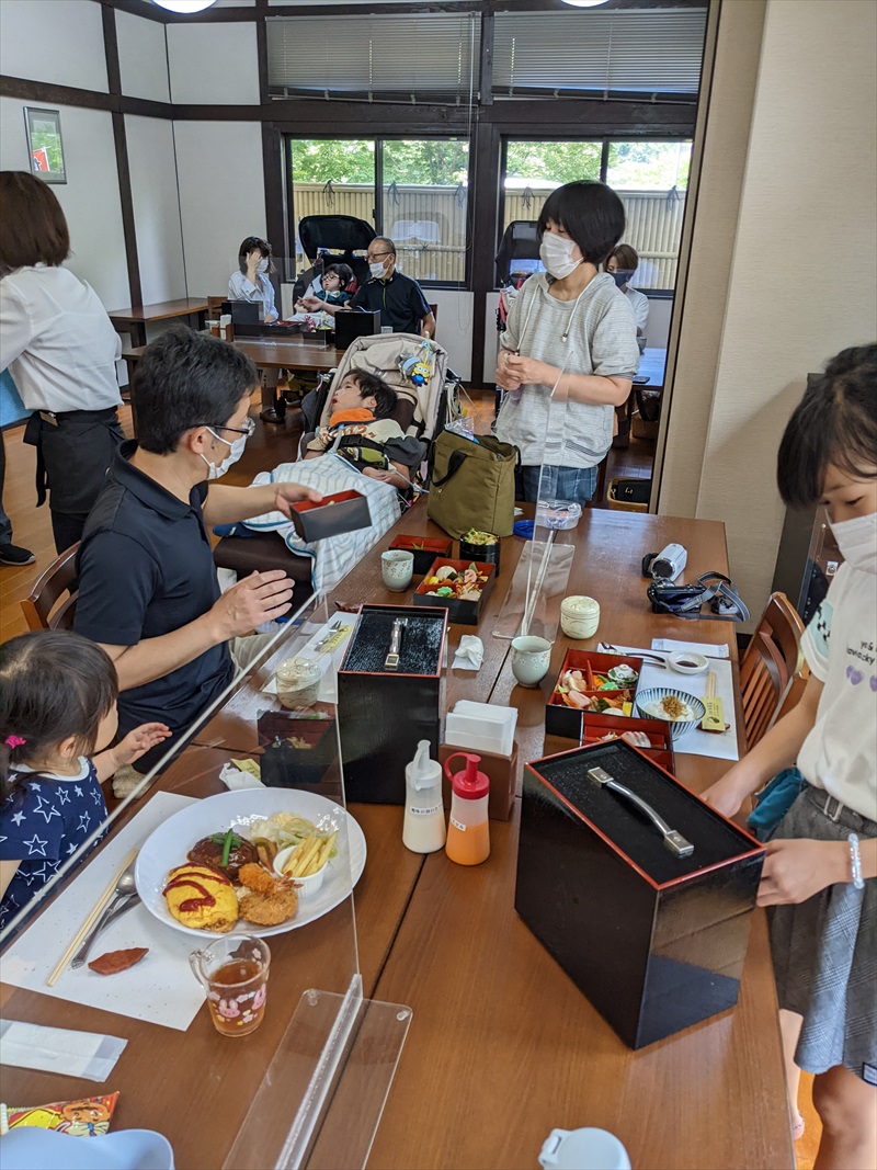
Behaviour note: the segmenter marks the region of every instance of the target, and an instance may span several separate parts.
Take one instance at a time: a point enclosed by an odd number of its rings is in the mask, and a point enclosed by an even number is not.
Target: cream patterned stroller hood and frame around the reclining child
[[[408,463],[412,481],[419,474],[421,480],[426,479],[423,463],[431,441],[443,427],[462,415],[461,379],[448,367],[447,350],[414,333],[379,333],[358,337],[351,343],[338,369],[324,374],[317,388],[302,402],[306,433],[302,436],[299,457],[317,427],[329,422],[332,392],[352,370],[375,373],[395,390],[399,401],[392,418],[406,435],[416,440],[410,445]]]

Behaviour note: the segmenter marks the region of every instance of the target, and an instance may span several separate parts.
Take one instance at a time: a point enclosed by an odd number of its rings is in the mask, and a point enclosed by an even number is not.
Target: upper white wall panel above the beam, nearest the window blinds
[[[167,25],[166,30],[174,103],[258,105],[255,25]]]

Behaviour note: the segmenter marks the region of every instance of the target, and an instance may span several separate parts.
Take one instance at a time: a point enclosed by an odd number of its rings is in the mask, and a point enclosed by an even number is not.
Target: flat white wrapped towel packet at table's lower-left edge
[[[21,1020],[0,1023],[0,1061],[43,1073],[105,1081],[116,1067],[127,1040],[97,1032],[46,1027]]]

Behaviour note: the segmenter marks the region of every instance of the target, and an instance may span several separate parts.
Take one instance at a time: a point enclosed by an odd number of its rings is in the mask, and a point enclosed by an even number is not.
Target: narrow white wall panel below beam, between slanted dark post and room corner
[[[165,118],[125,117],[137,259],[144,304],[186,296],[177,197],[173,126]]]

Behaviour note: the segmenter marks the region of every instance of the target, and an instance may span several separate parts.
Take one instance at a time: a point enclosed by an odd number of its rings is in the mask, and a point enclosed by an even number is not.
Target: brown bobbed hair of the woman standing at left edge
[[[0,276],[55,268],[70,255],[70,233],[51,187],[27,171],[0,171]]]

